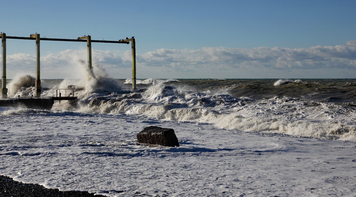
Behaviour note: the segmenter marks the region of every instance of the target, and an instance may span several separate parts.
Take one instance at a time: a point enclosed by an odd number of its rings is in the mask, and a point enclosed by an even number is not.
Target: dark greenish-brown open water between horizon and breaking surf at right
[[[256,100],[289,96],[323,102],[356,102],[356,79],[177,79],[166,84]]]

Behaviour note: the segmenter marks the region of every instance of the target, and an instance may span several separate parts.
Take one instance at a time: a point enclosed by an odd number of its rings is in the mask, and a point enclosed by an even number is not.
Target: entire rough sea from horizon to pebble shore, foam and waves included
[[[8,95],[31,97],[34,81],[8,80]],[[1,107],[0,174],[115,197],[355,194],[356,79],[136,83],[42,79],[42,97],[78,98]],[[173,128],[180,147],[138,144],[152,125]]]

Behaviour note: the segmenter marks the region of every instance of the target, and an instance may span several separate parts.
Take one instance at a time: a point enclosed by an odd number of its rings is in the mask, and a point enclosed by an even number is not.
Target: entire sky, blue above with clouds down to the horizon
[[[7,36],[135,36],[137,78],[355,78],[356,1],[15,0],[1,7]],[[85,47],[41,41],[41,76],[74,78],[67,68],[85,59]],[[92,47],[110,76],[131,77],[129,45]],[[8,39],[7,55],[8,78],[34,73],[33,41]]]

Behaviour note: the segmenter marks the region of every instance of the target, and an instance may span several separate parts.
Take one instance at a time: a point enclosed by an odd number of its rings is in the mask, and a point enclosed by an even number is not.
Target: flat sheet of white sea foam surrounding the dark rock
[[[145,116],[73,113],[0,119],[1,174],[61,191],[110,197],[354,194],[351,142],[256,135]],[[180,147],[137,144],[136,134],[150,124],[173,128]],[[91,145],[100,143],[105,145]]]

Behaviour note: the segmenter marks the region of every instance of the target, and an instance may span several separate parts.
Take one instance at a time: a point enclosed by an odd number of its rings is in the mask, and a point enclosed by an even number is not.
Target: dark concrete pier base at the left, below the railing
[[[0,107],[27,107],[34,109],[51,110],[53,103],[53,98],[0,99]]]

